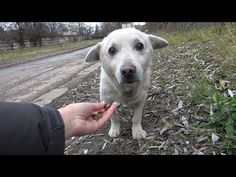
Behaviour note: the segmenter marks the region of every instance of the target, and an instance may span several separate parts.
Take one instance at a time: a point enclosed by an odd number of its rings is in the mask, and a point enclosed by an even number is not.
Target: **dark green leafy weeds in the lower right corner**
[[[215,93],[209,101],[212,114],[200,127],[213,129],[221,137],[222,151],[233,154],[236,152],[236,97]]]

